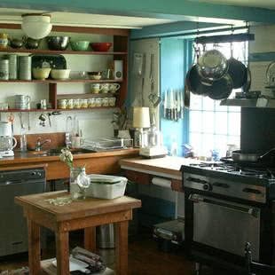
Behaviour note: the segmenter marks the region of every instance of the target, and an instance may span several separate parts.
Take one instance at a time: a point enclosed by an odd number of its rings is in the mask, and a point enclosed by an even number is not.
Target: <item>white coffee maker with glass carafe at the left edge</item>
[[[13,156],[13,148],[17,145],[12,135],[12,122],[0,122],[0,158]]]

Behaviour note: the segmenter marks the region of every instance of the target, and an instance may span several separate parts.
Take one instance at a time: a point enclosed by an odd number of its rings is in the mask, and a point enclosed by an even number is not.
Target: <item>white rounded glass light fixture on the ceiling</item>
[[[42,39],[51,33],[51,14],[25,13],[21,16],[21,28],[28,37]]]

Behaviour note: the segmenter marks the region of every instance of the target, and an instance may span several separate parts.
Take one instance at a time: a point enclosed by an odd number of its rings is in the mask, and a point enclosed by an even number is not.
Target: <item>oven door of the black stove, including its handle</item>
[[[252,258],[259,260],[260,208],[196,193],[189,200],[193,201],[193,241],[241,256],[249,241]]]

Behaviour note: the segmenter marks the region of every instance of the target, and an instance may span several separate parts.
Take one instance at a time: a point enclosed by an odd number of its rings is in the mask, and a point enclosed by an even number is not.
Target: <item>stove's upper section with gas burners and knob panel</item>
[[[244,200],[275,199],[275,169],[223,161],[201,161],[182,166],[184,188]]]

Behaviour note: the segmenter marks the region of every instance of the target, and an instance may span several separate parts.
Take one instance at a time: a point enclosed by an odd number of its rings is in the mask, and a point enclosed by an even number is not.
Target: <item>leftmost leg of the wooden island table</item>
[[[27,235],[29,274],[40,274],[40,226],[30,218],[27,218]]]

